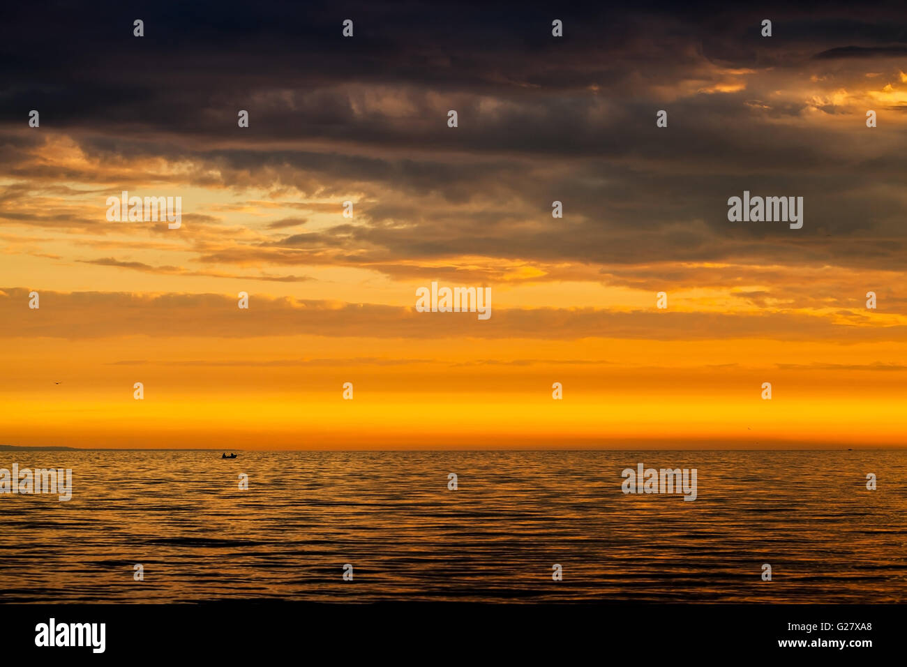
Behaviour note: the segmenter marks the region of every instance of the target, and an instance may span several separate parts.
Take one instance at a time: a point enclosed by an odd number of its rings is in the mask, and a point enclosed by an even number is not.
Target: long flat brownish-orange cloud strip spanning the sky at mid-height
[[[907,324],[875,322],[852,311],[685,312],[594,308],[493,309],[474,313],[419,313],[414,307],[276,299],[250,294],[248,310],[218,294],[130,294],[44,291],[41,309],[28,309],[28,289],[5,288],[0,338],[115,338],[122,336],[261,338],[633,338],[712,340],[772,338],[842,343],[902,340]]]

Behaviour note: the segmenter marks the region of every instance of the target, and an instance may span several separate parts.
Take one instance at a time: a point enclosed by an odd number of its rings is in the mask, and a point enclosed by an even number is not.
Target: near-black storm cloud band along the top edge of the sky
[[[905,16],[894,9],[873,5],[871,23],[860,8],[821,6],[824,15],[839,17],[809,21],[786,3],[742,10],[642,3],[632,11],[605,4],[582,12],[547,3],[22,4],[6,17],[0,45],[0,75],[9,82],[0,113],[13,123],[22,107],[41,105],[59,126],[136,123],[218,133],[210,121],[223,110],[222,120],[235,127],[233,110],[249,106],[249,93],[257,91],[407,83],[530,101],[540,90],[591,84],[605,95],[619,92],[632,88],[638,72],[670,81],[697,54],[746,66],[760,57],[784,62],[791,52],[849,46],[848,40],[874,40],[862,48],[903,41]],[[567,26],[557,42],[554,16]],[[775,20],[771,42],[758,34],[764,16]],[[340,36],[346,17],[356,22],[354,39]],[[145,22],[141,39],[132,36],[135,18]],[[32,48],[38,39],[52,47]],[[341,100],[309,99],[309,108],[292,114],[298,129],[345,126],[349,110]],[[264,123],[258,118],[249,134],[256,125]],[[278,129],[287,136],[288,127]]]

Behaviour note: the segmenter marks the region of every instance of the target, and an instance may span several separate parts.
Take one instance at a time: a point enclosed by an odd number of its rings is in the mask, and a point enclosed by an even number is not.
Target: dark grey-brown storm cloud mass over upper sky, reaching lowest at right
[[[554,17],[562,40],[551,38]],[[766,17],[771,39],[759,35]],[[18,132],[38,108],[43,130],[62,129],[109,167],[163,158],[192,165],[188,185],[363,193],[356,225],[284,235],[294,219],[274,221],[271,240],[199,248],[205,263],[402,275],[414,269],[401,260],[469,254],[895,269],[904,140],[866,137],[860,117],[851,133],[805,128],[806,112],[841,112],[774,95],[813,74],[853,81],[864,73],[846,62],[902,56],[905,35],[907,12],[894,4],[871,15],[827,3],[15,5],[0,41],[0,168],[37,182],[109,178],[18,159],[40,145]],[[667,130],[654,127],[658,109]],[[140,177],[124,172],[122,183]],[[804,196],[804,229],[728,223],[727,198],[744,190]],[[14,184],[0,196],[31,194]],[[2,215],[93,224],[65,210]]]

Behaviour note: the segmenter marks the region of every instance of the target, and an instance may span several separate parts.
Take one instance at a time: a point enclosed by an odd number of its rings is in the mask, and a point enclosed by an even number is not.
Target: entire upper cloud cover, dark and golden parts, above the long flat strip
[[[907,247],[898,11],[716,6],[587,7],[564,16],[562,40],[532,3],[355,2],[353,40],[317,2],[263,2],[244,20],[213,3],[155,7],[142,39],[112,3],[58,7],[54,25],[24,6],[0,46],[5,252],[287,284],[349,269],[698,287],[774,309],[851,308],[886,290]],[[58,50],[24,59],[29,33],[15,28],[35,21]],[[24,122],[32,108],[40,129]],[[121,189],[184,194],[183,229],[107,223],[102,199]],[[803,196],[804,228],[728,222],[744,190]]]

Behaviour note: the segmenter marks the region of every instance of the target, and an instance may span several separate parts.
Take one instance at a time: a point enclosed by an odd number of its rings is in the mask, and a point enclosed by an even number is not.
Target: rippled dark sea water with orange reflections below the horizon
[[[0,451],[73,469],[69,502],[0,494],[0,601],[907,602],[907,451],[219,456]],[[697,499],[624,495],[639,463]]]

